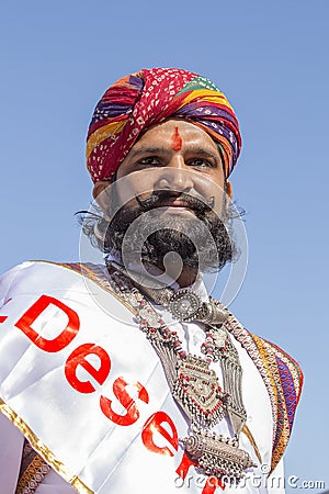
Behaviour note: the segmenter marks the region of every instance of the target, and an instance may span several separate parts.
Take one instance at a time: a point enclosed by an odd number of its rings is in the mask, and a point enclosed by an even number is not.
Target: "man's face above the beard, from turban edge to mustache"
[[[179,192],[202,201],[211,201],[216,213],[222,213],[225,177],[218,148],[211,136],[196,125],[169,120],[147,131],[132,147],[121,164],[117,179],[125,180],[124,189],[116,189],[118,201],[127,198],[147,198],[160,190],[171,190],[166,200],[167,213],[191,214]]]

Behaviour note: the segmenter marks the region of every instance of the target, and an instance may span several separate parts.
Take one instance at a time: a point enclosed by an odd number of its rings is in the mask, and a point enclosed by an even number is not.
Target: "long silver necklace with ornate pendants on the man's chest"
[[[218,479],[225,476],[238,483],[246,469],[257,465],[249,453],[239,448],[239,434],[247,417],[241,397],[242,369],[224,324],[207,326],[202,345],[205,358],[186,353],[177,333],[168,328],[123,268],[117,270],[112,265],[110,270],[114,290],[135,308],[136,322],[160,358],[172,396],[191,422],[189,435],[180,440],[181,445],[200,473]],[[224,311],[220,305],[218,308]],[[225,391],[209,368],[212,361],[222,364]],[[225,414],[230,419],[234,438],[209,430]]]

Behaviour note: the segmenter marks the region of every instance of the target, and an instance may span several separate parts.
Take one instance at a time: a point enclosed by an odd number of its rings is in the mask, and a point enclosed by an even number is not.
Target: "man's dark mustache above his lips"
[[[172,192],[170,190],[157,190],[147,198],[140,198],[136,195],[136,201],[143,211],[150,211],[156,207],[168,205],[168,201],[179,199],[180,204],[195,212],[195,214],[204,215],[213,210],[215,204],[215,198],[198,199],[186,192]]]

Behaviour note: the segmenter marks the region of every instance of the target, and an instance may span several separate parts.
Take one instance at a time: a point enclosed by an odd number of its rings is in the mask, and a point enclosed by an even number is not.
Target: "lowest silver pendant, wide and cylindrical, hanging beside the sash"
[[[245,470],[257,467],[249,453],[239,449],[236,439],[224,438],[215,433],[197,430],[181,440],[192,460],[197,461],[200,473],[225,478],[239,483]]]

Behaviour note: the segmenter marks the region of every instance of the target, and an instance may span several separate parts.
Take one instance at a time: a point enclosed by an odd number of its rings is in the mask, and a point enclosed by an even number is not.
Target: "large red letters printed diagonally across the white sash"
[[[66,314],[68,322],[66,327],[55,338],[46,339],[33,329],[32,325],[36,318],[52,304]],[[0,318],[0,323],[2,321]],[[80,319],[77,312],[68,307],[63,302],[48,295],[42,295],[15,323],[15,327],[21,329],[24,335],[27,336],[27,338],[41,350],[46,352],[57,352],[66,348],[75,339],[80,328]],[[98,369],[86,359],[86,357],[91,355],[97,356],[100,360],[100,367]],[[93,384],[90,381],[81,381],[78,378],[78,366],[81,366],[100,385],[102,385],[111,371],[111,358],[104,348],[95,344],[81,345],[77,347],[67,358],[65,363],[65,377],[68,383],[80,393],[93,393],[95,391]],[[100,397],[100,408],[102,413],[110,420],[121,426],[129,426],[139,418],[137,403],[126,391],[127,385],[128,383],[123,377],[115,379],[113,383],[113,393],[126,409],[124,415],[116,414],[113,411],[111,400],[103,395]],[[149,396],[146,388],[138,381],[133,385],[137,389],[138,400],[148,404]],[[170,433],[163,427],[164,424],[167,424]],[[146,420],[141,430],[141,440],[144,446],[149,451],[172,457],[174,453],[167,446],[157,446],[156,437],[158,436],[168,441],[174,451],[178,451],[179,439],[177,428],[170,416],[162,411],[152,414]],[[194,465],[195,463],[189,459],[186,453],[184,453],[181,463],[177,469],[178,475],[184,480],[189,469]],[[215,479],[217,481],[216,483],[212,483],[211,480],[212,479],[209,478],[206,481],[201,494],[214,494],[217,486],[223,490],[225,489],[225,485],[222,484],[218,479]]]

